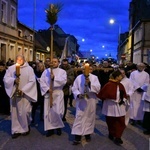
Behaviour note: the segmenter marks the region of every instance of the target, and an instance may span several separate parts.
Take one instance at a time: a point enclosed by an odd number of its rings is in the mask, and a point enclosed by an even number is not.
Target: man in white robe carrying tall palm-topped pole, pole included
[[[50,4],[47,12],[47,22],[51,24],[51,65],[46,69],[40,79],[41,93],[44,96],[44,130],[46,136],[54,134],[61,135],[64,127],[62,117],[64,114],[63,86],[67,82],[66,71],[60,69],[58,58],[53,58],[53,25],[57,21],[57,14],[62,4]]]

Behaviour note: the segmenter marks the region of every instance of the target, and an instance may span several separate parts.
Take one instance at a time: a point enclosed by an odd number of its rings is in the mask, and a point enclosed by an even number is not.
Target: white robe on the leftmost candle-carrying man
[[[20,82],[19,89],[24,93],[22,97],[15,97],[14,92],[16,86],[14,81],[16,79],[16,65],[10,66],[4,76],[5,89],[10,97],[11,106],[11,132],[25,133],[32,120],[31,118],[31,101],[37,101],[37,87],[36,79],[33,69],[26,62],[20,66]]]

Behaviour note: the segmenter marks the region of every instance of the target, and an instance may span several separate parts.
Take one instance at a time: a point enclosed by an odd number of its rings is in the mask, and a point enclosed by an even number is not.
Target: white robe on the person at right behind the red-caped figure
[[[130,98],[130,118],[134,120],[143,120],[144,111],[142,97],[144,92],[139,93],[136,89],[149,84],[149,74],[145,71],[135,70],[130,75],[130,80],[134,85],[134,93]]]

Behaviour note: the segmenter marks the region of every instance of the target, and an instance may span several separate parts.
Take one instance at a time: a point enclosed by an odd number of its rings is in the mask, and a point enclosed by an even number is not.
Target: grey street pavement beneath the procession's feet
[[[92,141],[87,143],[82,139],[80,145],[72,145],[74,137],[70,134],[74,121],[75,108],[68,107],[67,122],[62,135],[46,137],[43,122],[39,121],[39,112],[36,114],[36,123],[31,126],[28,136],[11,138],[10,116],[0,115],[0,150],[150,150],[150,136],[143,134],[140,126],[128,125],[125,129],[121,146],[115,145],[108,139],[105,117],[101,114],[101,105],[97,105],[95,131]]]

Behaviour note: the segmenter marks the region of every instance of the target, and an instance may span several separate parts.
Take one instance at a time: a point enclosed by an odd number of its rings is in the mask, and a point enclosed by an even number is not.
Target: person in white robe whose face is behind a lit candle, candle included
[[[72,92],[76,101],[76,116],[71,134],[75,135],[74,145],[80,144],[81,137],[87,142],[94,132],[96,115],[96,94],[100,91],[98,77],[91,74],[92,66],[85,64],[83,74],[75,79]]]

